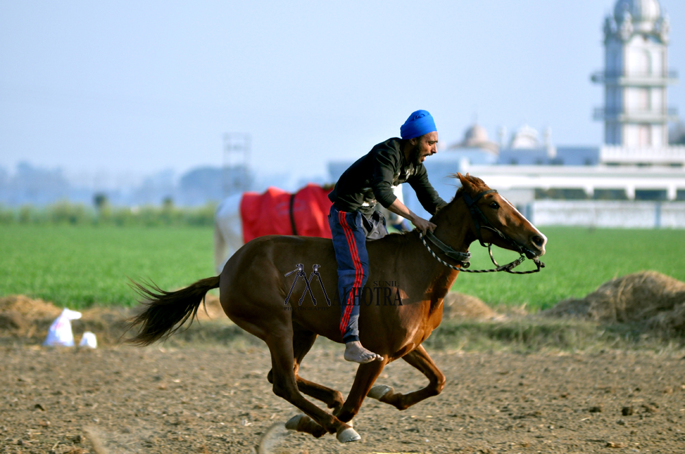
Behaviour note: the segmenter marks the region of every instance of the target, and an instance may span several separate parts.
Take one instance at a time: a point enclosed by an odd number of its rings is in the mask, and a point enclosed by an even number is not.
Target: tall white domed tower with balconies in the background
[[[668,68],[669,17],[657,0],[619,0],[604,22],[606,59],[592,80],[605,86],[604,142],[623,148],[668,146],[668,122],[677,120],[667,106],[667,85],[677,81]]]

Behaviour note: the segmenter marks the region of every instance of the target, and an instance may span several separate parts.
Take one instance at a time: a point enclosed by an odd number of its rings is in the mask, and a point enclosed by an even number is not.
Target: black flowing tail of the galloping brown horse
[[[188,319],[192,323],[206,293],[219,287],[219,276],[201,279],[175,292],[164,291],[155,284],[144,286],[138,282],[133,282],[132,287],[142,296],[140,303],[146,307],[136,317],[129,319],[128,329],[140,325],[140,331],[126,342],[150,345],[174,334]]]

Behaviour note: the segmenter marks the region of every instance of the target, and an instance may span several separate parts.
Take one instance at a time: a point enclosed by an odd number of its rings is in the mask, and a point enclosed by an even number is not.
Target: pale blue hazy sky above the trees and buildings
[[[685,2],[669,66],[685,75]],[[549,126],[599,145],[602,23],[614,0],[0,0],[0,167],[78,174],[223,164],[249,133],[261,174],[325,176],[399,135],[416,109],[440,142],[477,119],[497,139]],[[669,104],[685,111],[682,82]]]

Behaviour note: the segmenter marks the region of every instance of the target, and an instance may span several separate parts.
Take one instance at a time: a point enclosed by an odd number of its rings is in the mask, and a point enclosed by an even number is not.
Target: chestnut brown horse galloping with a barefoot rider
[[[479,239],[501,248],[523,251],[528,258],[545,254],[545,236],[505,198],[489,190],[479,178],[468,174],[456,176],[462,187],[432,217],[437,225],[435,237],[459,252],[467,252],[469,245]],[[462,197],[464,194],[468,197]],[[477,206],[482,213],[479,219],[474,219],[464,199]],[[489,226],[484,226],[486,223]],[[367,282],[390,286],[391,296],[375,304],[373,295],[371,303],[364,298],[360,304],[359,337],[364,347],[381,355],[383,360],[360,364],[347,399],[337,390],[299,376],[299,365],[316,336],[343,342],[338,328],[340,305],[328,306],[321,286],[314,285],[316,282],[311,287],[318,302],[316,307],[309,298],[302,306],[295,304],[297,297],[284,304],[294,277],[284,275],[298,263],[307,267],[320,264],[325,288],[332,295],[337,293],[336,256],[329,239],[260,237],[240,248],[220,276],[199,280],[175,292],[138,286],[147,306],[132,321],[132,325],[140,325],[140,332],[131,342],[148,345],[173,334],[188,318],[192,321],[206,292],[219,287],[226,315],[269,347],[272,369],[267,379],[273,384],[275,395],[303,412],[288,421],[286,427],[316,437],[336,433],[340,442],[358,440],[360,436],[347,423],[357,414],[367,395],[405,410],[443,390],[445,375],[421,343],[440,325],[443,297],[459,272],[437,261],[416,230],[369,241],[366,248],[369,252]],[[460,265],[433,249],[446,263]],[[305,291],[303,282],[295,288],[294,295]],[[373,386],[384,366],[399,358],[427,377],[429,382],[425,388],[402,394],[389,386]],[[333,409],[332,413],[314,405],[303,394],[323,401]]]

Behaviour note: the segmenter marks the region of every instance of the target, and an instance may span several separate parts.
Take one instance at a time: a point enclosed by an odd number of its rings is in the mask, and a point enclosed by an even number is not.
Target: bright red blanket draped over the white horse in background
[[[332,238],[328,212],[332,202],[319,185],[309,184],[295,193],[292,217],[297,235]],[[290,193],[269,187],[264,193],[246,192],[240,200],[242,241],[247,243],[264,235],[292,235],[290,224]]]

